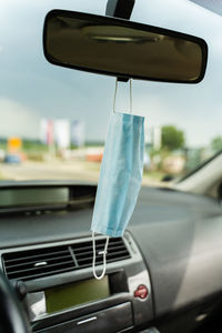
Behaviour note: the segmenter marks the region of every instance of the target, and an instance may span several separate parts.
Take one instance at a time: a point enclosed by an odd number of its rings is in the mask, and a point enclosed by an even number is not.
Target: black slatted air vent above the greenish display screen
[[[105,240],[97,241],[97,252],[104,249]],[[130,253],[121,238],[111,239],[107,262],[129,259]],[[2,255],[7,276],[10,280],[34,280],[59,273],[89,268],[92,264],[92,242],[10,252]],[[97,264],[102,255],[97,255]]]

